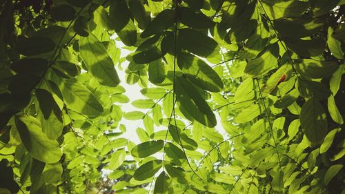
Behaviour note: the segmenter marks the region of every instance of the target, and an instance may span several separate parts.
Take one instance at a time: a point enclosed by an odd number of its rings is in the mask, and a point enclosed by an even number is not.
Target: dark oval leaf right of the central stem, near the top
[[[219,45],[215,40],[190,28],[179,30],[177,44],[200,57],[213,57],[219,54]]]

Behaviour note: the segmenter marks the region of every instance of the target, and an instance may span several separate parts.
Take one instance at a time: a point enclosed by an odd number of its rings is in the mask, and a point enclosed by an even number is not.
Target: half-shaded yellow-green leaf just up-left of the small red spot
[[[244,72],[248,77],[265,75],[269,70],[277,68],[277,44],[272,44],[259,54],[259,57],[248,61]]]

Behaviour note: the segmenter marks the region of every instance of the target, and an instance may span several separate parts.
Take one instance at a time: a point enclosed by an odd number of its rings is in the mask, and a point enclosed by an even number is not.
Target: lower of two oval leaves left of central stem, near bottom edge
[[[150,177],[153,177],[161,168],[162,161],[160,159],[155,159],[145,164],[141,165],[137,171],[135,171],[133,177],[135,180],[144,181]]]

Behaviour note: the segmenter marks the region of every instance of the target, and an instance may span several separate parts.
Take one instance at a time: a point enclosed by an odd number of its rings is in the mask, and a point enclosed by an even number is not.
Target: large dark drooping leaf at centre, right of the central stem
[[[215,115],[190,81],[184,77],[176,77],[175,84],[177,101],[184,106],[190,116],[204,126],[214,127],[217,124]]]

